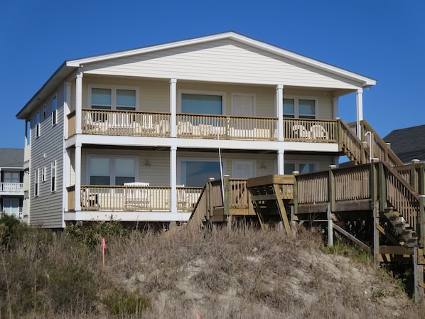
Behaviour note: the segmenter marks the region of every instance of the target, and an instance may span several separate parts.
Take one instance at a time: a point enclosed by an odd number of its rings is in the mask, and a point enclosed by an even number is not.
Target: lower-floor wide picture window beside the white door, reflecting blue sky
[[[208,178],[221,179],[219,161],[180,161],[181,180],[186,186],[202,187],[208,182]]]

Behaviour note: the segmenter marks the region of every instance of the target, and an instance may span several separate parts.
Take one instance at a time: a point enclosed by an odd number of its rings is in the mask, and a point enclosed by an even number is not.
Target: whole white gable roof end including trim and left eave
[[[221,55],[221,60],[215,65],[213,63],[205,63],[205,57],[208,58],[208,54],[211,54],[210,56],[212,56],[212,54],[214,54],[211,53],[212,50],[220,45],[222,45],[222,47],[226,47],[226,51],[221,51],[220,54],[216,54]],[[200,48],[203,49],[202,53]],[[255,52],[252,53],[251,51]],[[217,50],[215,53],[216,52]],[[255,55],[256,57],[264,55],[267,56],[267,59],[261,60],[261,62],[258,62],[259,60],[255,60],[257,62],[254,62],[254,64],[258,63],[257,68],[254,65],[254,67],[251,68],[251,73],[249,74],[249,70],[247,70],[247,67],[242,63],[239,65],[239,69],[237,69],[240,60],[238,59],[238,54],[244,53],[252,53],[252,56]],[[194,56],[196,54],[203,56],[203,59],[198,60],[198,64],[196,64],[197,59]],[[176,60],[177,55],[181,58],[181,60]],[[225,75],[224,72],[220,73],[219,70],[220,67],[222,70],[228,70],[229,66],[225,65],[228,57],[234,58],[232,62],[236,67],[236,71],[232,73],[232,77],[227,74]],[[174,60],[172,60],[173,58]],[[163,67],[164,61],[168,63],[168,67]],[[187,63],[187,65],[185,65],[185,72],[179,72],[178,69],[178,65],[181,65],[182,61]],[[276,61],[278,62],[276,63]],[[227,61],[227,63],[229,62]],[[170,65],[173,65],[174,68],[170,67]],[[261,70],[258,69],[259,66],[261,67]],[[155,75],[155,77],[176,77],[183,80],[187,78],[188,80],[205,81],[220,81],[221,79],[226,78],[229,82],[241,83],[246,81],[246,79],[253,79],[255,77],[258,84],[286,85],[289,80],[291,80],[293,85],[303,86],[305,83],[302,82],[302,80],[299,82],[294,80],[297,77],[294,75],[298,75],[301,70],[304,78],[316,78],[316,82],[310,83],[311,86],[317,85],[317,83],[327,83],[328,87],[343,88],[338,85],[338,82],[345,82],[350,85],[349,87],[351,89],[353,89],[353,87],[370,87],[376,84],[376,80],[373,80],[370,77],[365,77],[363,75],[341,69],[340,67],[335,67],[312,58],[307,58],[306,56],[293,53],[289,50],[284,50],[274,45],[254,40],[252,38],[242,36],[239,33],[230,31],[211,36],[179,40],[176,42],[152,45],[144,48],[136,48],[133,50],[124,50],[116,53],[95,55],[87,58],[65,61],[65,63],[56,70],[52,77],[45,82],[45,85],[43,85],[41,90],[39,90],[26,104],[26,106],[21,109],[21,111],[17,114],[17,117],[24,119],[28,115],[28,112],[30,112],[31,107],[34,104],[37,104],[38,99],[45,98],[45,96],[49,94],[50,90],[53,90],[57,85],[63,82],[66,77],[80,67],[82,67],[82,70],[87,73],[105,75],[132,75],[146,77]],[[163,68],[163,73],[161,73],[161,67]],[[124,69],[126,69],[125,73]],[[203,72],[199,72],[198,70],[203,70]],[[284,75],[286,75],[287,78],[285,78]],[[329,79],[331,79],[330,82]],[[327,86],[324,85],[323,87]]]

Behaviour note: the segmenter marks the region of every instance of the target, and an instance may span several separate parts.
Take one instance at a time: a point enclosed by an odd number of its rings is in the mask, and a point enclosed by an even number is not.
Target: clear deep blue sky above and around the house
[[[65,61],[235,31],[376,79],[364,117],[380,136],[425,124],[425,1],[14,0],[0,6],[0,147],[23,148],[16,114]],[[355,120],[355,95],[340,99]]]

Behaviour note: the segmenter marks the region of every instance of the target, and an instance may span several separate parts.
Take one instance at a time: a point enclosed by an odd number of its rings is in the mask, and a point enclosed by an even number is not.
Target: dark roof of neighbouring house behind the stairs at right
[[[425,161],[425,125],[394,129],[384,141],[391,144],[392,151],[403,163],[410,163],[413,159]]]

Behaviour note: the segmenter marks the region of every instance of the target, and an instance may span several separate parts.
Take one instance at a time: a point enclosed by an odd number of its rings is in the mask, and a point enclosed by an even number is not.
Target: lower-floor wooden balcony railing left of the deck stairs
[[[73,191],[73,190],[71,190]],[[177,188],[177,210],[191,212],[202,188]],[[73,207],[73,206],[72,206]],[[82,210],[170,211],[171,188],[166,186],[81,186]]]

